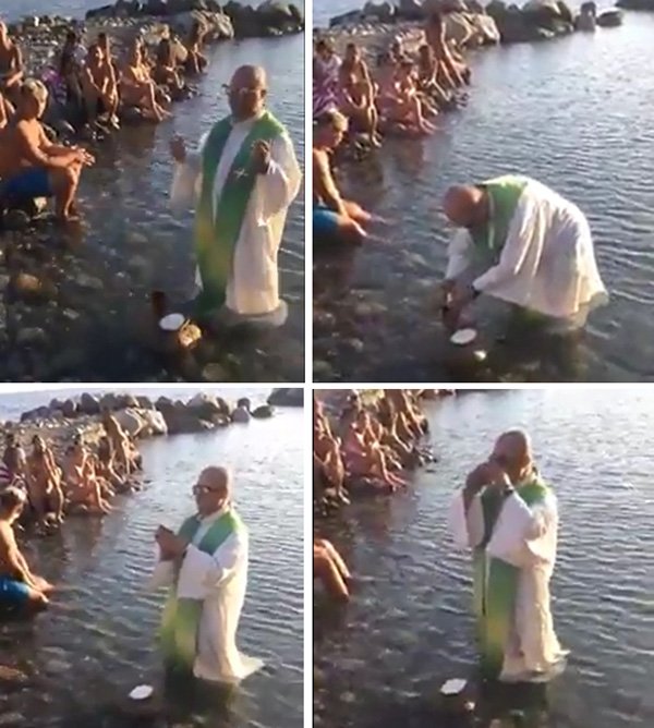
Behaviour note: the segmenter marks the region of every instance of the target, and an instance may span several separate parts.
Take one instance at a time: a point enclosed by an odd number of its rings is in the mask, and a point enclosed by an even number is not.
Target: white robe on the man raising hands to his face
[[[451,501],[448,525],[459,548],[472,548],[484,538],[480,496],[468,518],[463,489]],[[519,495],[509,496],[501,508],[486,553],[520,569],[516,614],[505,648],[499,679],[506,682],[548,679],[558,674],[568,654],[554,631],[549,580],[556,561],[558,509],[554,495],[530,508]]]

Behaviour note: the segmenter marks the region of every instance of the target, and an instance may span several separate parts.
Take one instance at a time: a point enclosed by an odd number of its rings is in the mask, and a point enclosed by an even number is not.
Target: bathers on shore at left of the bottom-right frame
[[[425,463],[420,448],[428,423],[419,399],[422,390],[385,389],[374,403],[349,395],[332,425],[314,397],[314,496],[329,493],[344,503],[349,492],[395,493],[407,485],[402,472]],[[350,572],[334,545],[314,538],[314,578],[337,599],[350,595]]]

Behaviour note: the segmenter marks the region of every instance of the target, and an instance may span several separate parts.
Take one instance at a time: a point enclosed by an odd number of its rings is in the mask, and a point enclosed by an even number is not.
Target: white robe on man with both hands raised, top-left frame
[[[218,162],[214,182],[214,209],[241,145],[255,119],[235,123]],[[194,153],[177,165],[171,190],[174,208],[194,205],[202,190],[202,155],[205,134]],[[287,135],[277,136],[270,150],[268,173],[257,177],[247,204],[241,233],[234,247],[232,275],[227,286],[226,305],[243,316],[269,314],[280,305],[277,256],[287,211],[298,196],[302,172],[293,144]],[[199,277],[197,277],[199,283]]]

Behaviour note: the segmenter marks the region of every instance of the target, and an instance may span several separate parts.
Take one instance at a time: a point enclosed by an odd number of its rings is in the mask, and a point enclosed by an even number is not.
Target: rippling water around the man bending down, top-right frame
[[[320,8],[323,16],[339,10]],[[654,92],[641,60],[652,31],[652,15],[628,13],[620,28],[480,51],[472,56],[468,105],[445,114],[440,132],[425,141],[389,139],[375,160],[343,170],[344,194],[389,225],[378,226],[375,240],[350,259],[317,257],[322,379],[654,378],[654,193],[646,161],[654,154],[646,121]],[[520,335],[499,342],[485,368],[469,372],[450,362],[428,305],[450,234],[440,199],[450,184],[506,172],[534,177],[580,205],[611,300],[566,355],[552,355],[549,341],[535,351]],[[335,267],[341,270],[336,283]],[[484,302],[480,318],[493,335],[504,332],[496,316]]]

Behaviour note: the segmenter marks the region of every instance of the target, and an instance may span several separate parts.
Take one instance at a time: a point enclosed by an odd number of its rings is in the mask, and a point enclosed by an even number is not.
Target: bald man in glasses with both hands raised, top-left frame
[[[265,108],[265,71],[240,68],[226,93],[231,113],[197,151],[187,153],[180,137],[171,142],[172,203],[196,203],[202,290],[193,313],[201,323],[280,326],[288,310],[279,296],[277,255],[302,174],[287,129]]]

